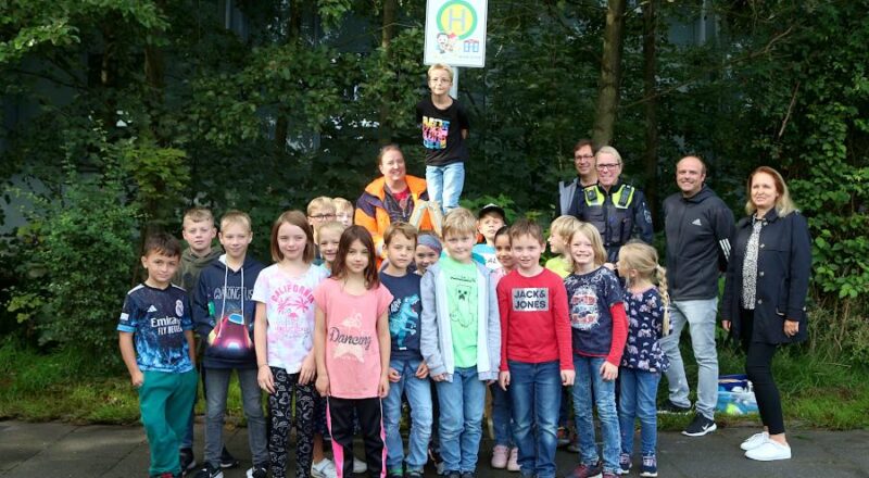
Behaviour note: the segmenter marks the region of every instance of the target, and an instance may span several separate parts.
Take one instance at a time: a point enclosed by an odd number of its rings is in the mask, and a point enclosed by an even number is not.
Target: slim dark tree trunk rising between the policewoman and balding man
[[[655,204],[658,204],[658,118],[657,118],[657,1],[648,0],[643,5],[643,96],[645,101],[645,153],[643,172],[645,197],[652,213],[652,224],[657,224]]]

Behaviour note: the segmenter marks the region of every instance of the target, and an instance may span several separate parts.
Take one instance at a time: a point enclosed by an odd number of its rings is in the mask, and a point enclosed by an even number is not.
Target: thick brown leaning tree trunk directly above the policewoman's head
[[[604,51],[601,59],[601,79],[597,86],[597,106],[594,110],[594,131],[592,133],[592,141],[595,148],[609,144],[613,141],[613,127],[616,123],[619,83],[621,80],[625,3],[626,0],[607,1]]]

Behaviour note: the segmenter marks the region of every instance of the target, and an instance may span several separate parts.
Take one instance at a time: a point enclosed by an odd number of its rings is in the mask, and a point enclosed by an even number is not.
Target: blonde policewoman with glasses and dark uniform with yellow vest
[[[645,203],[643,191],[621,183],[621,155],[613,147],[602,147],[594,155],[597,183],[582,189],[582,197],[572,204],[579,221],[591,223],[606,249],[606,265],[609,268],[618,260],[618,250],[637,238],[652,243],[652,214]]]

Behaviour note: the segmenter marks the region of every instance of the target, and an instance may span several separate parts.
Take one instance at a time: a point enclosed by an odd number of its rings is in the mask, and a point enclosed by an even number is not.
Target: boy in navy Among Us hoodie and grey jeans
[[[221,471],[224,414],[232,370],[238,375],[248,441],[253,467],[251,478],[265,478],[268,469],[265,415],[256,380],[253,345],[255,302],[253,286],[263,264],[248,255],[253,240],[251,218],[241,211],[228,211],[221,219],[221,244],[226,253],[214,261],[199,279],[193,301],[193,319],[204,345],[202,367],[206,402],[205,457],[196,478],[217,478]],[[207,373],[205,373],[207,372]]]

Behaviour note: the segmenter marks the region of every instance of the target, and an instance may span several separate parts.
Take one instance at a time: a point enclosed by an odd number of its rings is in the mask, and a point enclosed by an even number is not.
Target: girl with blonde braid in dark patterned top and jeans
[[[628,316],[628,341],[619,368],[619,428],[621,430],[621,474],[631,469],[633,423],[640,419],[642,466],[640,476],[657,476],[657,395],[660,374],[669,363],[659,339],[669,329],[666,271],[658,264],[655,248],[643,242],[621,247],[616,264],[625,279],[625,312]]]

